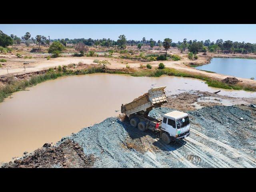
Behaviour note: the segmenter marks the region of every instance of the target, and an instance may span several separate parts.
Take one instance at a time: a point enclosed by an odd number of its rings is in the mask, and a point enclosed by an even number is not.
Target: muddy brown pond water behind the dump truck
[[[202,80],[174,76],[90,74],[49,80],[16,92],[0,103],[0,162],[117,116],[121,104],[156,86],[167,86],[167,94],[221,90],[219,94],[223,95],[256,97],[256,92],[211,88]]]

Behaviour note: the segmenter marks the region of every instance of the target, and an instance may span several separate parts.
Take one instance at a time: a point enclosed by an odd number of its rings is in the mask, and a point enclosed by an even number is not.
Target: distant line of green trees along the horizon
[[[249,42],[233,42],[231,40],[223,41],[222,39],[216,40],[216,42],[211,42],[209,39],[205,41],[197,41],[195,40],[187,40],[186,38],[183,39],[182,42],[178,41],[172,42],[172,39],[165,38],[164,41],[158,40],[155,41],[152,38],[150,40],[146,40],[145,37],[142,38],[142,40],[127,40],[125,35],[120,35],[118,37],[118,40],[111,40],[110,38],[102,38],[102,39],[92,39],[92,38],[78,38],[78,39],[50,39],[50,36],[42,36],[42,35],[36,35],[35,38],[31,37],[31,34],[29,32],[26,32],[24,36],[21,38],[18,38],[16,35],[11,34],[10,36],[4,34],[0,30],[0,46],[6,47],[13,44],[20,44],[21,42],[24,42],[26,46],[30,46],[30,43],[36,43],[38,44],[39,48],[40,45],[50,45],[51,42],[60,42],[62,45],[66,46],[66,44],[78,44],[82,42],[86,46],[104,46],[104,47],[113,47],[118,46],[120,48],[126,48],[127,45],[130,46],[137,46],[138,49],[144,48],[145,46],[149,45],[150,49],[152,49],[154,46],[158,46],[160,49],[162,46],[165,48],[170,47],[178,47],[181,52],[188,49],[190,52],[193,52],[194,54],[198,52],[206,52],[207,50],[209,52],[222,52],[223,54],[229,54],[229,53],[243,53],[248,54],[252,52],[256,52],[256,44],[252,44]],[[168,44],[168,46],[167,46]],[[169,48],[170,48],[169,47]],[[168,49],[169,49],[168,48]],[[167,50],[166,50],[167,51]]]

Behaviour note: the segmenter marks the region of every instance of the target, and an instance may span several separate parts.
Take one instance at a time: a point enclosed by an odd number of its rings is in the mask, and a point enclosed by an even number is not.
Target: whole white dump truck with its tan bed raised
[[[166,86],[156,87],[121,106],[121,112],[129,118],[130,125],[138,127],[140,131],[151,130],[160,132],[160,138],[169,144],[175,139],[184,139],[190,135],[190,121],[187,113],[172,111],[163,115],[162,119],[148,116],[153,108],[167,103]]]

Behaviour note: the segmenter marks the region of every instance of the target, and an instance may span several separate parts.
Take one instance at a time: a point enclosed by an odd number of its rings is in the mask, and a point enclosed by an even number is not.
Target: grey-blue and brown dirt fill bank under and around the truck
[[[256,167],[256,109],[245,104],[255,102],[254,98],[234,100],[208,92],[173,97],[150,116],[188,111],[191,134],[185,140],[166,145],[157,133],[140,132],[112,117],[2,167]],[[184,105],[175,106],[177,102]],[[212,104],[199,108],[202,103]],[[232,104],[236,105],[225,106]]]

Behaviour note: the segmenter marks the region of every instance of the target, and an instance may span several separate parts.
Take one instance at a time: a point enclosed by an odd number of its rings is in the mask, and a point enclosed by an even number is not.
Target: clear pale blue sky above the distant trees
[[[117,40],[124,34],[127,40],[155,41],[171,38],[172,42],[187,40],[217,39],[256,43],[256,24],[0,24],[5,34],[18,37],[30,32],[36,35],[62,38],[110,38]]]

